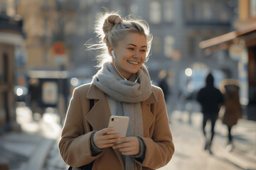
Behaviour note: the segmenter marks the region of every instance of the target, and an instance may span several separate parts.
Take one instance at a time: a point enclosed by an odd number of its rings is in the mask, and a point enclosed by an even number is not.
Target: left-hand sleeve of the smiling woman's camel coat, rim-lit
[[[89,111],[89,101],[86,101]],[[65,118],[63,131],[60,137],[59,149],[63,161],[73,167],[80,167],[100,157],[92,157],[90,150],[90,137],[93,132],[84,128],[84,117],[82,115],[82,106],[79,90],[75,89],[68,106],[68,112]]]

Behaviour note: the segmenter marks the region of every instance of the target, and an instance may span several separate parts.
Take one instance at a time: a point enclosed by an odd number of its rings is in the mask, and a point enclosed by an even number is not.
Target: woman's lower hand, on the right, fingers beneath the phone
[[[114,145],[113,149],[119,149],[123,155],[139,154],[139,140],[137,137],[122,137],[120,144]]]

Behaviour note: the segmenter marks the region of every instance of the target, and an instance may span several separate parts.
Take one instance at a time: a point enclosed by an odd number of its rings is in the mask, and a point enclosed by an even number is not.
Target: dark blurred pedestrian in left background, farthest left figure
[[[28,96],[29,96],[29,105],[31,107],[31,111],[33,115],[35,113],[41,113],[39,108],[39,102],[42,94],[41,94],[41,88],[39,86],[38,79],[31,78],[29,80]]]

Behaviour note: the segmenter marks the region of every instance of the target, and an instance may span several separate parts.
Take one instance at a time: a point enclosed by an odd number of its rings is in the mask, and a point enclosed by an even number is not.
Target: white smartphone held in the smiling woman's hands
[[[120,133],[120,137],[125,137],[127,133],[127,128],[129,125],[129,117],[121,116],[121,115],[112,115],[110,116],[110,122],[108,127],[113,127],[114,130],[108,132],[108,134],[112,133]]]

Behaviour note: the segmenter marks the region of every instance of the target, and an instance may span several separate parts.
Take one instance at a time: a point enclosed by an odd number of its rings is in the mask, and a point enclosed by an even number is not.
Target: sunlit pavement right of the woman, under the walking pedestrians
[[[159,170],[238,170],[256,169],[256,122],[239,120],[233,128],[234,146],[232,152],[226,149],[228,130],[217,120],[213,155],[203,149],[204,137],[201,132],[201,113],[192,114],[188,123],[188,113],[174,111],[170,115],[170,128],[174,137],[176,151],[171,162]],[[206,126],[210,130],[210,125]]]

